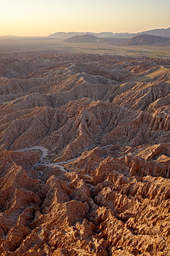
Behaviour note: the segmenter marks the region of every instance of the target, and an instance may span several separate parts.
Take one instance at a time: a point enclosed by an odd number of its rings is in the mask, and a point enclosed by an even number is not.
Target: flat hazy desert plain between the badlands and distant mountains
[[[0,37],[1,52],[59,50],[68,53],[98,53],[148,57],[170,57],[169,46],[125,46],[127,39],[114,39],[114,44],[67,44],[50,37]]]

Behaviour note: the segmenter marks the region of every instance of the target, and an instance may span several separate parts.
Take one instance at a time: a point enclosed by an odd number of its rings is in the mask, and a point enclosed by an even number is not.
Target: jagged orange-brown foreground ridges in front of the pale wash
[[[106,150],[94,149],[91,160]],[[96,181],[101,175],[95,165],[96,174],[89,176],[81,169],[78,174],[56,170],[41,185],[36,176],[29,178],[33,173],[9,169],[1,178],[1,253],[168,255],[169,179],[127,177],[110,168]]]

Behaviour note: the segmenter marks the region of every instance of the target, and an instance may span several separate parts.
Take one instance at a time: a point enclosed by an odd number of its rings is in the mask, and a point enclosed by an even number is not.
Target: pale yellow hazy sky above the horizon
[[[170,27],[170,0],[1,0],[0,35],[136,33]]]

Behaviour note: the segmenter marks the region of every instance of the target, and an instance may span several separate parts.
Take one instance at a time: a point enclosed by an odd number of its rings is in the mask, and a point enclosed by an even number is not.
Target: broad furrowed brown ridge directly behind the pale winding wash
[[[56,152],[56,161],[79,156],[97,145],[136,147],[169,141],[169,114],[153,115],[83,98],[63,107],[36,107],[3,117],[1,147],[19,149],[38,144]],[[18,117],[18,118],[17,118]],[[8,121],[9,120],[9,121]]]

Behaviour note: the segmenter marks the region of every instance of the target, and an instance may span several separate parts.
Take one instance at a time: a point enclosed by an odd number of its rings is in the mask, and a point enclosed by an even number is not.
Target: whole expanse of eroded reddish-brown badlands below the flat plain
[[[0,55],[0,255],[170,255],[170,60]]]

